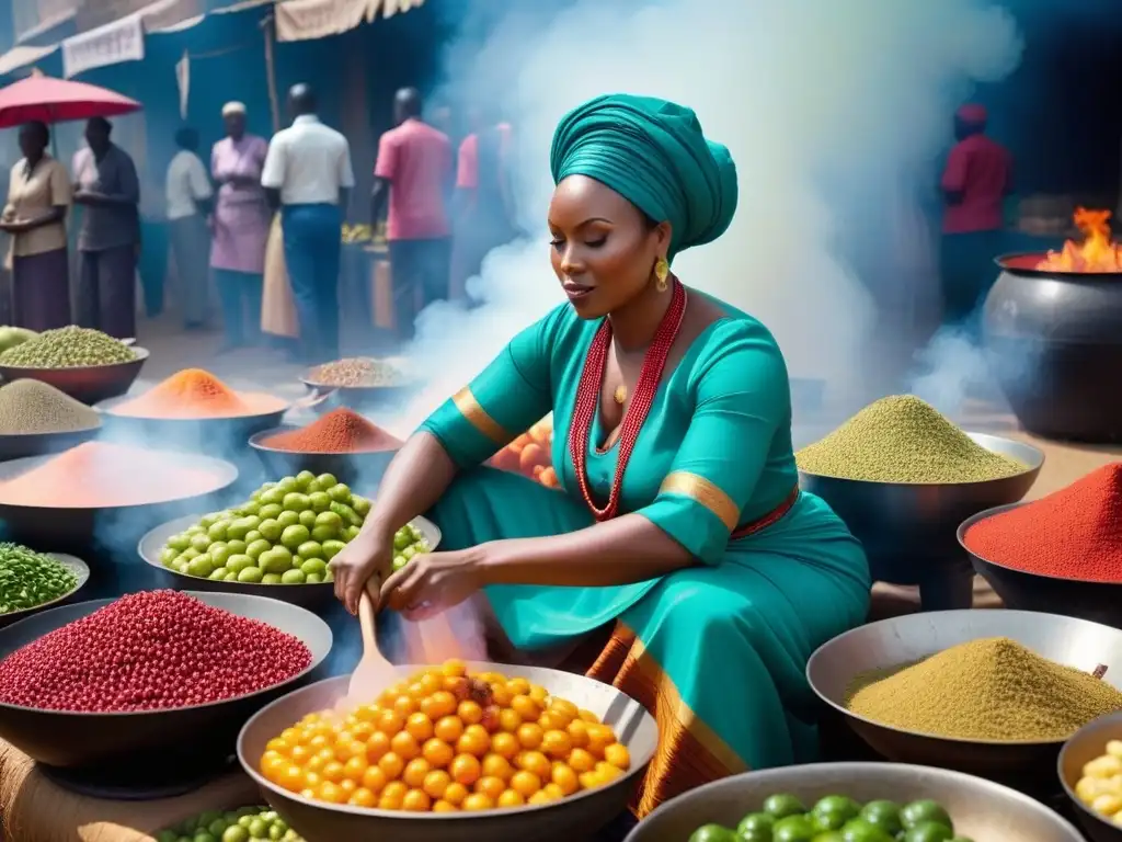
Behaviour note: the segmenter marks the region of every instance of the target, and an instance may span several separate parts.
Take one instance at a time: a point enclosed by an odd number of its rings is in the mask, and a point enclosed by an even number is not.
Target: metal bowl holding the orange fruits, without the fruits
[[[533,839],[576,842],[595,833],[624,811],[659,742],[659,729],[643,707],[610,685],[553,669],[476,663],[480,670],[528,678],[552,694],[599,715],[631,750],[632,769],[614,784],[554,804],[480,813],[403,814],[313,802],[270,784],[257,770],[265,744],[307,713],[331,708],[347,695],[349,676],[330,678],[277,699],[246,723],[238,738],[238,759],[260,785],[274,809],[306,842],[384,839],[393,842],[478,842]],[[396,667],[405,676],[417,667]]]

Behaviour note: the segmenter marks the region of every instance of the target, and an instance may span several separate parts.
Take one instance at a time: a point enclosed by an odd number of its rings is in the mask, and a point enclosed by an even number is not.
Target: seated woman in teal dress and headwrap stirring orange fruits
[[[724,775],[812,758],[807,659],[864,621],[870,577],[845,524],[798,491],[775,340],[670,272],[728,228],[728,150],[689,109],[617,94],[562,120],[551,166],[569,302],[402,448],[332,561],[335,593],[353,612],[376,579],[406,619],[482,598],[528,656],[611,629],[590,674],[661,729],[643,815]],[[560,489],[481,467],[551,411]],[[389,575],[395,529],[421,513],[443,530],[440,551]]]

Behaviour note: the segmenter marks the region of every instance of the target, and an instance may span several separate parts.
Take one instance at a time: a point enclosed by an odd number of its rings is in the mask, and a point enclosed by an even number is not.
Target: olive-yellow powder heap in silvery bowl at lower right
[[[859,687],[846,707],[892,727],[964,740],[1066,740],[1122,710],[1106,681],[1009,638],[962,643]]]

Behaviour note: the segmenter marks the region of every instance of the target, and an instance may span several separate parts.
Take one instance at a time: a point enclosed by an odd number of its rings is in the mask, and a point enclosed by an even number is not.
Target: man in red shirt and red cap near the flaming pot
[[[955,115],[958,143],[940,180],[944,202],[941,274],[944,321],[967,319],[988,292],[997,272],[993,258],[1005,250],[1005,199],[1013,192],[1013,159],[985,135],[983,106]]]

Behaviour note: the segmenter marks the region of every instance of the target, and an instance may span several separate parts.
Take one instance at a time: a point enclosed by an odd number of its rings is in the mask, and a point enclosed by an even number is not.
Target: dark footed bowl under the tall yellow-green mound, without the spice
[[[971,606],[974,571],[955,530],[985,509],[1021,500],[1045,461],[1032,445],[966,434],[1026,469],[978,483],[877,483],[799,472],[799,486],[829,503],[864,544],[873,580],[919,585],[925,611]]]

